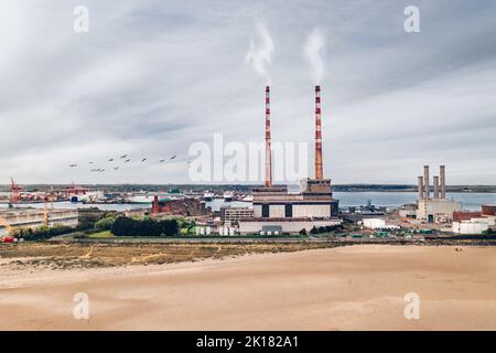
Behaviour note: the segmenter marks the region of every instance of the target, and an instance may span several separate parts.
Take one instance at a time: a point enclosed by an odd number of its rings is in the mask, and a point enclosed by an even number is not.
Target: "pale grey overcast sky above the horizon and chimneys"
[[[304,47],[322,33],[334,183],[413,184],[444,163],[450,184],[496,184],[495,17],[493,0],[0,0],[0,183],[188,183],[192,142],[262,141],[266,78],[246,62],[261,23],[274,141],[312,142]]]

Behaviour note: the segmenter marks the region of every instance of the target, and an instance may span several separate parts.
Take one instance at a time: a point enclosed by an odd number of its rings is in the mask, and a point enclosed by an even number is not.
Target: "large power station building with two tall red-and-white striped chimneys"
[[[338,201],[333,197],[331,179],[323,176],[321,87],[315,86],[315,178],[303,179],[299,193],[272,183],[270,137],[270,87],[266,87],[266,165],[265,185],[252,190],[254,220],[239,222],[241,234],[259,233],[266,226],[280,226],[282,233],[298,233],[313,226],[341,223]]]

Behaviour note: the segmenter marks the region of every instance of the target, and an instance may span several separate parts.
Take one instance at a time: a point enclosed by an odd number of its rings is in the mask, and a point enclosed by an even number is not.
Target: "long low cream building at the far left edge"
[[[0,234],[7,235],[12,227],[40,227],[54,224],[76,226],[79,213],[75,208],[51,210],[47,214],[43,208],[9,208],[0,211]]]

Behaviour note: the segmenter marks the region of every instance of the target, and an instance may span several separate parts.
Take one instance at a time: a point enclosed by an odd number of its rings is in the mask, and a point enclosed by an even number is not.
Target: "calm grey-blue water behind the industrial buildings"
[[[371,203],[376,206],[399,206],[405,203],[414,203],[417,199],[416,192],[335,192],[334,196],[339,200],[339,206],[359,206],[367,204],[367,200],[371,200]],[[465,210],[477,211],[481,210],[482,204],[496,204],[496,194],[490,193],[449,193],[449,199],[453,199],[462,202]],[[223,200],[213,200],[206,203],[213,211],[218,211],[223,205],[231,206],[247,206],[248,202],[224,202]],[[43,208],[43,203],[25,204],[19,206],[32,206]],[[0,204],[0,207],[7,207],[6,204]],[[147,204],[80,204],[72,202],[56,202],[54,203],[56,208],[87,208],[98,207],[104,211],[126,211],[132,208],[145,208],[150,207]]]

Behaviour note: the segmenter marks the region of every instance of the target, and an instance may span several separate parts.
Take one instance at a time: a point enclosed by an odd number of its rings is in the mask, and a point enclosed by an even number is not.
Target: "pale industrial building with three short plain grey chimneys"
[[[440,185],[441,180],[441,185]],[[429,223],[450,223],[453,213],[462,211],[462,204],[446,199],[445,167],[440,167],[440,176],[433,178],[434,193],[431,197],[429,165],[423,167],[423,176],[418,176],[419,199],[417,202],[417,220]]]

